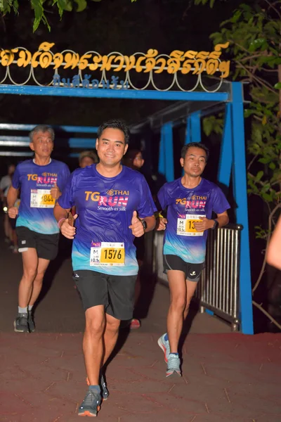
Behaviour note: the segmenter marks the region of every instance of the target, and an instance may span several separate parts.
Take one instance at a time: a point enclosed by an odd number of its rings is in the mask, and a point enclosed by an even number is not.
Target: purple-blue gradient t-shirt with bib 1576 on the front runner
[[[117,276],[138,274],[131,229],[133,211],[138,217],[155,212],[143,175],[123,166],[112,178],[103,177],[96,165],[75,170],[63,195],[61,207],[75,205],[77,232],[72,245],[74,271],[89,269]]]

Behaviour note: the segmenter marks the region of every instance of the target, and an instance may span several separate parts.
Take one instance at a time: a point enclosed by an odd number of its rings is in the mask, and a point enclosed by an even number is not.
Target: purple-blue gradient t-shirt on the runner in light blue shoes
[[[192,264],[204,262],[207,230],[198,232],[193,223],[202,217],[211,219],[213,211],[221,214],[230,208],[221,189],[203,178],[196,188],[188,189],[180,178],[164,184],[158,200],[162,210],[168,207],[164,255],[176,255]]]

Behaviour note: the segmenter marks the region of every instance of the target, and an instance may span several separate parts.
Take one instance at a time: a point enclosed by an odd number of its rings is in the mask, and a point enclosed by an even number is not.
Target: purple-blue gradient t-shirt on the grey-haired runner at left
[[[25,160],[15,168],[12,186],[20,189],[20,207],[16,226],[41,234],[59,233],[53,216],[55,200],[51,188],[57,184],[63,191],[70,170],[64,162],[51,160],[47,165],[37,165],[33,160]]]

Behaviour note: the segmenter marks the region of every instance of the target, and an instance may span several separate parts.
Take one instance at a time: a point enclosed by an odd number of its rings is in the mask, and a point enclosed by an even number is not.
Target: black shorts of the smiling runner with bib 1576
[[[105,312],[116,319],[131,319],[137,276],[112,276],[79,269],[73,272],[73,279],[81,296],[84,311],[97,305],[104,305]]]

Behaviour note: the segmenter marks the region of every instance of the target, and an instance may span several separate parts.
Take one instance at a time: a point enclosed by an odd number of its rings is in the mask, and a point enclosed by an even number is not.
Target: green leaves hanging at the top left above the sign
[[[44,23],[48,27],[48,30],[51,30],[46,18],[46,11],[50,11],[55,8],[59,13],[60,18],[62,18],[65,11],[84,11],[87,7],[87,1],[99,2],[101,0],[30,0],[30,7],[34,11],[33,32],[37,30],[40,23]],[[136,0],[131,0],[131,3],[134,1]],[[2,16],[11,13],[11,11],[19,13],[19,7],[20,5],[18,0],[0,0],[0,13]]]

